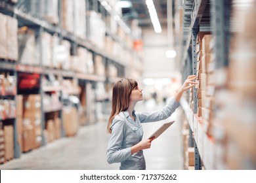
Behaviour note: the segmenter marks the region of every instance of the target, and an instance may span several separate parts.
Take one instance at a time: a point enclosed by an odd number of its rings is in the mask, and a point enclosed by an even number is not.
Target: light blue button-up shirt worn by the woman
[[[106,152],[108,163],[121,162],[120,170],[146,169],[143,151],[131,154],[131,146],[138,144],[143,137],[141,123],[165,120],[175,112],[177,107],[179,107],[179,103],[175,99],[171,99],[165,107],[155,112],[135,112],[133,110],[135,121],[129,116],[127,110],[116,115],[111,125],[112,134]]]

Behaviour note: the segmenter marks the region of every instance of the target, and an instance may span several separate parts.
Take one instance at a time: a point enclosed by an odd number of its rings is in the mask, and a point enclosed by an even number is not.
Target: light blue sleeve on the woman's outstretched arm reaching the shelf
[[[141,123],[157,122],[169,118],[179,106],[179,102],[173,98],[170,99],[162,109],[156,110],[154,112],[138,112],[137,116],[139,117]]]

